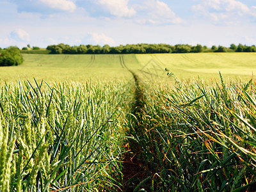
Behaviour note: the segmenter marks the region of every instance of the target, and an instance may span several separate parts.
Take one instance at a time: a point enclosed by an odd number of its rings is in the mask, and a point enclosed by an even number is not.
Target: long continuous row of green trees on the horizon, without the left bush
[[[79,45],[67,44],[49,45],[50,54],[150,54],[150,53],[186,53],[186,52],[256,52],[255,45],[231,44],[230,47],[213,45],[211,48],[197,44],[127,44],[117,47],[109,45]]]

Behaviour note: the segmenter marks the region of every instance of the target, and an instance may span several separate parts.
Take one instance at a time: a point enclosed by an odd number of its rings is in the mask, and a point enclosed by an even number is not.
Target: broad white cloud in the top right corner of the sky
[[[255,8],[237,0],[200,0],[202,3],[191,7],[193,12],[209,17],[214,22],[237,23],[241,17],[256,17]],[[240,17],[240,18],[239,18]]]

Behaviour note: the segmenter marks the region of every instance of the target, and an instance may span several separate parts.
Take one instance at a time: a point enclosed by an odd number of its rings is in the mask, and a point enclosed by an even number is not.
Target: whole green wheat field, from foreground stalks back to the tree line
[[[0,68],[0,191],[256,191],[256,54],[24,54]]]

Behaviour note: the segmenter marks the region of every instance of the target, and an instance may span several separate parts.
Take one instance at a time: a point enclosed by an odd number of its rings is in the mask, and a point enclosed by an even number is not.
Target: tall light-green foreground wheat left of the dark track
[[[2,86],[0,191],[119,189],[119,97],[114,84]]]

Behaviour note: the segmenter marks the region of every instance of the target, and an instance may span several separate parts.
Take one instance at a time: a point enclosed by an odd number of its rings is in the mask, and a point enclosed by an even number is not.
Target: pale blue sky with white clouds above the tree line
[[[0,0],[0,47],[256,44],[255,0]]]

